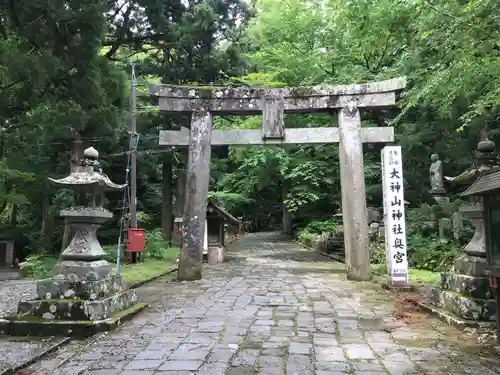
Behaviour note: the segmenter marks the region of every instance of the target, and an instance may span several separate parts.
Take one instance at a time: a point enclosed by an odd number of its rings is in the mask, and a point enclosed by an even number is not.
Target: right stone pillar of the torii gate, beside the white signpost
[[[340,109],[338,123],[347,278],[358,281],[370,280],[368,211],[366,208],[361,118],[358,108]]]

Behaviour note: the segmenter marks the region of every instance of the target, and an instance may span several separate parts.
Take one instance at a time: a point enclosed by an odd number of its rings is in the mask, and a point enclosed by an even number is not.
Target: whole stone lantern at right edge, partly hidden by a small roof
[[[459,176],[448,178],[450,183],[470,186],[484,172],[496,165],[495,144],[483,136],[476,150],[476,163]],[[441,287],[430,288],[429,301],[456,317],[472,321],[495,319],[495,301],[491,298],[488,280],[485,228],[480,197],[472,197],[460,208],[460,213],[471,220],[475,233],[454,262],[450,272],[441,274]]]

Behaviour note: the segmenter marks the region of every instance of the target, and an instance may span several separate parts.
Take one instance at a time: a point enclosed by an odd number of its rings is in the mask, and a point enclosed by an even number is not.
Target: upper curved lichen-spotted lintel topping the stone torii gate
[[[395,92],[405,87],[404,78],[331,87],[249,88],[154,85],[149,94],[159,98],[167,113],[207,110],[214,115],[262,114],[266,103],[281,103],[283,113],[330,112],[348,106],[385,107],[396,101]]]

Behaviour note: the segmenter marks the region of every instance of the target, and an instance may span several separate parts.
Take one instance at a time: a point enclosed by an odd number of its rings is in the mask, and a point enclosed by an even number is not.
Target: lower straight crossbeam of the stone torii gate
[[[183,130],[160,130],[160,146],[188,146],[190,132]],[[361,128],[363,143],[394,142],[393,127]],[[281,144],[327,144],[340,141],[339,128],[284,129],[284,137],[265,139],[260,129],[212,130],[210,144],[223,145],[281,145]]]

